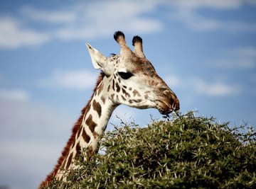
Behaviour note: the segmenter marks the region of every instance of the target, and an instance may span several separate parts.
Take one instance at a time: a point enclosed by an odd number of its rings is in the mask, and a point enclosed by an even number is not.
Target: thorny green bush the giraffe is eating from
[[[193,112],[122,125],[100,139],[100,153],[80,158],[67,182],[49,188],[256,188],[252,127]]]

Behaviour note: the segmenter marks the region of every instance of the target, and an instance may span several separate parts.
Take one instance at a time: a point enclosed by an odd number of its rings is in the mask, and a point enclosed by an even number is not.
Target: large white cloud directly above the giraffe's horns
[[[72,40],[112,35],[115,30],[126,33],[152,33],[163,28],[161,21],[143,17],[142,13],[154,11],[156,2],[102,1],[73,6],[79,19],[55,30],[57,38]],[[129,11],[127,11],[129,10]]]

